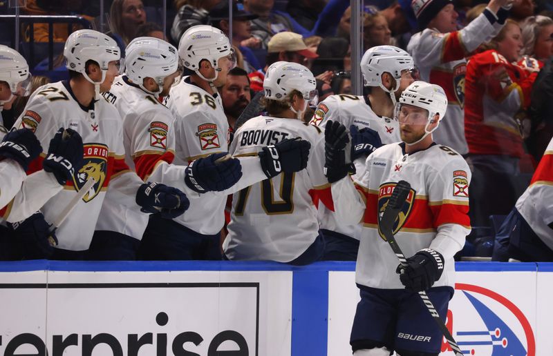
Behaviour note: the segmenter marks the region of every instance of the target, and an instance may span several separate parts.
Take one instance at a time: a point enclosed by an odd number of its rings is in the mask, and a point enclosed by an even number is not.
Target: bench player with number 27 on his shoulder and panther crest
[[[59,246],[52,256],[55,259],[87,259],[106,190],[118,192],[122,204],[149,212],[172,209],[183,212],[185,207],[179,206],[178,201],[185,201],[186,197],[179,190],[162,184],[144,184],[124,162],[121,119],[117,110],[100,97],[100,91],[109,90],[118,74],[120,52],[115,41],[94,30],[78,30],[68,37],[64,56],[69,81],[38,88],[15,127],[32,128],[45,150],[50,148],[50,137],[59,127],[75,130],[84,143],[83,165],[75,167],[74,174],[69,177],[56,176],[64,188],[42,207],[44,217],[25,221],[18,230],[46,236],[44,226],[48,224],[45,219],[55,221],[80,188],[89,179],[94,179],[95,184],[57,229]],[[41,169],[42,161],[49,159],[50,156],[41,155],[31,162],[28,173]],[[27,196],[41,194],[42,188],[37,184]],[[13,209],[7,219],[10,222],[19,220]]]

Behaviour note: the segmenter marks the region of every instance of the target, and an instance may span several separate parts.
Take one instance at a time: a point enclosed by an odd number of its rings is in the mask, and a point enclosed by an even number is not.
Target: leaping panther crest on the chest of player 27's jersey
[[[94,199],[104,187],[108,167],[108,152],[108,146],[103,144],[84,145],[84,165],[73,176],[73,185],[75,190],[79,191],[89,178],[94,178],[96,183],[82,198],[86,202]]]

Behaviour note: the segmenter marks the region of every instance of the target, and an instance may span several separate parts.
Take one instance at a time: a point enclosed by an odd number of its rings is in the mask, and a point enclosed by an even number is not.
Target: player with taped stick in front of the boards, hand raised
[[[432,141],[431,132],[446,109],[442,88],[413,82],[396,106],[402,142],[375,150],[355,183],[345,173],[332,183],[339,220],[364,226],[355,270],[361,301],[350,338],[355,356],[388,356],[392,350],[402,356],[440,353],[442,332],[416,292],[427,290],[445,319],[453,296],[453,255],[470,232],[469,167],[457,152]],[[344,170],[334,159],[344,155],[348,141],[344,132],[344,126],[328,122],[327,171]],[[401,180],[412,188],[394,226],[397,243],[411,256],[404,269],[398,268],[398,259],[379,230],[379,217]],[[422,337],[402,337],[407,334]]]

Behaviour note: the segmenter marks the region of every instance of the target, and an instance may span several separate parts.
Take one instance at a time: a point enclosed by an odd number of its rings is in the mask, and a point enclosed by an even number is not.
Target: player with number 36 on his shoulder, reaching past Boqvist
[[[152,216],[140,255],[143,259],[221,259],[227,195],[281,171],[302,170],[306,162],[298,157],[308,154],[309,143],[279,142],[259,156],[217,164],[227,155],[229,126],[216,88],[225,84],[228,71],[234,67],[234,53],[221,30],[205,25],[193,26],[182,35],[178,53],[186,68],[185,77],[171,88],[167,107],[175,118],[174,164],[188,167],[169,172],[171,167],[164,161],[153,170],[151,178],[167,179],[176,186],[174,182],[186,179],[198,199],[191,199],[187,213],[172,221]],[[216,177],[223,177],[228,166],[236,170],[236,175],[218,182]],[[204,194],[208,188],[221,192]]]

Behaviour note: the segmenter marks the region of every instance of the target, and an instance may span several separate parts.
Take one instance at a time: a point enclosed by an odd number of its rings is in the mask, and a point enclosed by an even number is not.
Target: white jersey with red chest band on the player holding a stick
[[[389,144],[366,160],[362,177],[332,184],[332,197],[339,219],[353,224],[362,221],[355,278],[373,288],[404,288],[395,273],[399,261],[379,231],[379,216],[400,180],[411,184],[411,192],[394,224],[395,239],[406,257],[422,248],[433,248],[444,256],[442,277],[434,286],[453,286],[453,255],[465,244],[470,232],[469,182],[465,159],[447,146],[434,144],[412,154],[404,144]]]

